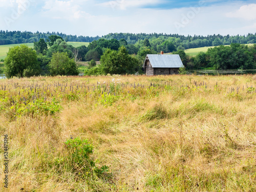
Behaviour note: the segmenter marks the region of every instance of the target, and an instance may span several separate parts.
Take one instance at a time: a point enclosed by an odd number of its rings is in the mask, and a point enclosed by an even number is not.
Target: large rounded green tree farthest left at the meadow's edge
[[[7,78],[30,77],[40,73],[36,52],[26,45],[10,48],[5,59],[5,66]]]

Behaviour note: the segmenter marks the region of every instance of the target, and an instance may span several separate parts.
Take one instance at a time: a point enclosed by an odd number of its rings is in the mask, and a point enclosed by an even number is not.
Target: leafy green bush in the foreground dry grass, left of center
[[[96,162],[92,157],[94,147],[88,142],[88,139],[81,140],[80,138],[68,139],[65,142],[69,156],[68,162],[73,172],[76,172],[82,178],[101,176],[109,171],[109,167],[103,165],[96,166]]]

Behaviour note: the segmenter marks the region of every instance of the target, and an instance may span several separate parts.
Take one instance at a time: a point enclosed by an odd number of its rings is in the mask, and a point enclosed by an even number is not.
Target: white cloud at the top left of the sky
[[[58,1],[58,0],[47,0],[43,7],[42,14],[46,17],[54,19],[79,19],[88,18],[91,15],[82,11],[80,6],[76,3],[81,1]]]

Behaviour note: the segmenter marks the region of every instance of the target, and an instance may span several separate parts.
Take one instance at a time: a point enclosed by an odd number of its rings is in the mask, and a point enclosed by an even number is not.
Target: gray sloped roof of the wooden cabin
[[[180,59],[180,55],[173,54],[148,54],[146,59],[150,60],[153,68],[180,68],[184,67]],[[145,61],[146,61],[145,59]],[[144,65],[145,65],[144,61]],[[144,67],[143,65],[143,67]]]

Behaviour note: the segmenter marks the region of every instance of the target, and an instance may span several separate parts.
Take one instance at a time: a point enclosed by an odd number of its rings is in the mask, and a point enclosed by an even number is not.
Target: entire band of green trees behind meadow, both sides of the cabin
[[[221,45],[189,57],[183,49],[177,48],[173,37],[139,40],[135,45],[128,44],[124,38],[100,38],[90,42],[88,47],[75,48],[62,37],[51,35],[46,41],[40,38],[34,42],[33,49],[25,45],[11,48],[5,59],[5,73],[7,77],[78,75],[78,61],[90,61],[86,75],[143,73],[145,56],[160,51],[179,54],[186,69],[256,69],[256,44]],[[101,64],[96,66],[96,61]]]

